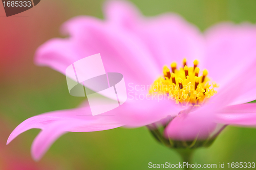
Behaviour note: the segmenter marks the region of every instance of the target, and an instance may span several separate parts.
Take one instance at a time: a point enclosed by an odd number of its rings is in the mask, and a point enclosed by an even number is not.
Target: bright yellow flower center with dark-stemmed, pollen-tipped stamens
[[[182,106],[200,106],[206,103],[212,95],[217,93],[214,88],[218,85],[210,81],[206,69],[200,71],[198,64],[199,61],[195,60],[194,66],[188,67],[184,59],[183,67],[179,69],[176,62],[170,64],[170,69],[164,66],[163,76],[153,83],[150,94],[166,94],[168,99],[173,99],[176,104]]]

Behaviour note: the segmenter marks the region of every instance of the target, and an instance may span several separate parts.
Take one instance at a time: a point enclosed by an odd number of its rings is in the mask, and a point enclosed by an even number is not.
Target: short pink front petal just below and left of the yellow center
[[[117,119],[126,127],[141,127],[158,122],[167,115],[176,116],[181,110],[185,109],[175,104],[175,101],[168,100],[167,97],[161,100],[127,100],[120,107],[110,111],[114,112]],[[142,95],[141,95],[142,98]],[[149,97],[148,97],[149,98]]]

